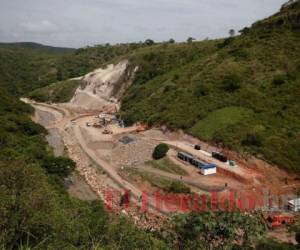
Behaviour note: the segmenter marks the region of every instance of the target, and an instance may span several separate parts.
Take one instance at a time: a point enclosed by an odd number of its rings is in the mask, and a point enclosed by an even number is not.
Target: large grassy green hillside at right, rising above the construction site
[[[122,115],[300,171],[300,2],[241,32],[133,54]]]

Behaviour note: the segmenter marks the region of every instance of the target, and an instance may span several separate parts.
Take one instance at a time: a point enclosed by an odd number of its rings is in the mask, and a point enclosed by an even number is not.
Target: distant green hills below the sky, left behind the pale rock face
[[[0,44],[0,87],[14,96],[82,76],[144,43],[98,45],[75,52],[36,44]],[[58,52],[63,53],[58,53]]]

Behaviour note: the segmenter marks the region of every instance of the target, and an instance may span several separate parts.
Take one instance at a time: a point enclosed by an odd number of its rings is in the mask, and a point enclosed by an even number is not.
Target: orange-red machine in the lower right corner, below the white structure
[[[295,223],[295,216],[291,213],[272,213],[264,215],[270,229],[289,226]]]

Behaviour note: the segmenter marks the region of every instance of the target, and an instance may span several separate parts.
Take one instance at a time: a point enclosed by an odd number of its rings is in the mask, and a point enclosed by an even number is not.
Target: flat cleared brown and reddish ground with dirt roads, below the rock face
[[[173,182],[181,183],[193,193],[207,194],[216,191],[224,195],[235,190],[258,200],[263,197],[263,190],[266,189],[273,195],[292,195],[299,188],[296,176],[288,175],[255,158],[244,159],[234,152],[227,152],[238,163],[238,167],[231,168],[227,163],[211,157],[211,151],[216,150],[214,147],[182,133],[167,130],[162,132],[159,129],[137,133],[136,126],[120,128],[109,125],[107,128],[113,134],[103,134],[104,128],[87,126],[87,123],[95,122],[96,113],[78,113],[74,109],[69,110],[66,105],[32,105],[36,110],[49,113],[49,122],[43,122],[45,127],[59,131],[70,157],[77,162],[78,173],[96,197],[102,199],[105,199],[105,192],[109,188],[128,189],[134,203],[140,204],[142,191],[151,193],[161,188],[162,192],[168,193],[172,190],[169,187]],[[122,142],[124,136],[130,138],[130,143]],[[171,150],[167,158],[153,161],[153,149],[161,142],[167,143]],[[205,151],[195,150],[195,143],[201,144]],[[217,164],[218,173],[212,176],[201,175],[196,168],[177,158],[178,151],[185,151],[203,161]],[[80,186],[81,184],[74,188],[74,195],[79,198],[83,195],[88,199],[90,194],[81,192]],[[155,204],[150,203],[149,206],[152,212],[157,212]],[[166,212],[158,211],[163,215]]]

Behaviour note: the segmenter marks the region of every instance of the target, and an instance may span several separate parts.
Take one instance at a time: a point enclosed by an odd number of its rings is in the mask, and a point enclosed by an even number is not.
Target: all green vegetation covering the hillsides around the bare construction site
[[[61,81],[127,57],[139,65],[122,107],[128,123],[167,124],[299,170],[299,12],[297,1],[226,40],[148,40],[74,53],[0,45],[0,248],[253,248],[264,232],[259,214],[190,213],[175,216],[162,232],[149,232],[109,215],[102,202],[70,198],[63,180],[75,163],[53,156],[46,131],[17,98],[53,82],[53,93],[37,98],[69,98],[78,83]],[[174,182],[169,191],[182,188]],[[265,240],[257,248],[294,249]]]

